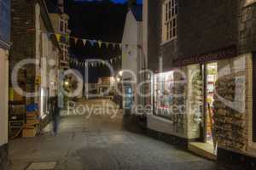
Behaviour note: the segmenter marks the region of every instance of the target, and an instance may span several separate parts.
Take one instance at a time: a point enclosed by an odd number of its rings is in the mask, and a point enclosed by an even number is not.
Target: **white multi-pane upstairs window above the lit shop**
[[[162,11],[162,40],[167,42],[177,37],[177,0],[166,0]]]

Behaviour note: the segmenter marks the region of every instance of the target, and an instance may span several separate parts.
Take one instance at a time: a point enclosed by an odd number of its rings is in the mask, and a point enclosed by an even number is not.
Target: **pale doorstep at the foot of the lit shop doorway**
[[[188,150],[198,156],[205,157],[209,160],[217,161],[216,153],[212,144],[201,142],[189,142]]]

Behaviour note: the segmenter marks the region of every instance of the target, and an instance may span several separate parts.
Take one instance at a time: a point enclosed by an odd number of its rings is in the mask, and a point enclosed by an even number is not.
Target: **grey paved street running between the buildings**
[[[44,161],[55,161],[58,170],[218,169],[213,161],[128,132],[122,123],[121,114],[114,119],[63,117],[57,136],[51,136],[46,127],[36,138],[11,141],[10,170],[23,170],[32,162]]]

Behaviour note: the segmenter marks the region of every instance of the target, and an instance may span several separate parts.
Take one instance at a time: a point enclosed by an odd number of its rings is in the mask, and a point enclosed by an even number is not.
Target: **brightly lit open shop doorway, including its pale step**
[[[195,87],[200,86],[198,90],[201,91],[201,93],[196,93],[199,95],[196,99],[199,99],[199,101],[195,104],[197,108],[199,108],[196,111],[200,112],[200,114],[198,114],[200,116],[197,116],[198,120],[200,120],[198,121],[200,122],[200,138],[197,142],[189,143],[189,150],[195,151],[195,153],[201,153],[202,156],[206,156],[209,159],[216,159],[217,143],[214,139],[213,132],[214,121],[212,104],[214,102],[215,82],[218,79],[218,63],[201,64],[200,66],[198,65],[197,68],[200,70],[200,74],[197,81],[191,81],[191,87],[193,88],[192,91],[195,91]],[[195,84],[195,82],[200,83]]]

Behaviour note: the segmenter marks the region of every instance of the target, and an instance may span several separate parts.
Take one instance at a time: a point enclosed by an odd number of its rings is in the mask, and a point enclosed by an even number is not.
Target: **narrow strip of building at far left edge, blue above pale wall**
[[[0,169],[7,169],[10,1],[0,0]]]

